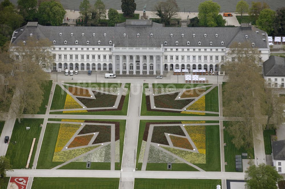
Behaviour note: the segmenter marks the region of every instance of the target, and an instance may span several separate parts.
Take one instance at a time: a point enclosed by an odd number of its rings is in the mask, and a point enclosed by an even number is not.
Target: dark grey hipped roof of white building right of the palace
[[[263,62],[264,76],[285,76],[285,58],[270,56]]]

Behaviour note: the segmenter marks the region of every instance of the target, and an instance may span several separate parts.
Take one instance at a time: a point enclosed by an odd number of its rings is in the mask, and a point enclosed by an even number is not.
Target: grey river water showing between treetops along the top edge
[[[0,0],[3,1],[3,0]],[[10,0],[11,2],[17,4],[17,0]],[[89,0],[91,5],[94,5],[96,0]],[[106,5],[106,9],[114,8],[114,9],[121,9],[121,0],[102,0]],[[146,4],[147,11],[153,11],[154,5],[159,0],[135,0],[137,3],[137,10],[143,10],[144,4]],[[204,2],[205,0],[177,0],[177,4],[179,7],[180,12],[198,12],[198,6],[200,3]],[[221,12],[233,12],[235,11],[235,6],[237,2],[240,0],[215,0],[214,2],[218,3],[221,6]],[[251,0],[245,0],[250,5]],[[82,0],[60,0],[63,7],[65,9],[75,9],[79,10],[79,5]],[[279,7],[285,6],[284,0],[264,0],[269,6],[270,9],[276,10]]]

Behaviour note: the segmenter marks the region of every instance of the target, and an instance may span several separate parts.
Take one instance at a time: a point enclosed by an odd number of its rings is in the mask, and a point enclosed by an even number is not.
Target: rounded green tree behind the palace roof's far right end
[[[268,35],[270,35],[273,32],[274,19],[275,11],[271,9],[263,9],[260,11],[256,25],[258,28],[264,30]]]

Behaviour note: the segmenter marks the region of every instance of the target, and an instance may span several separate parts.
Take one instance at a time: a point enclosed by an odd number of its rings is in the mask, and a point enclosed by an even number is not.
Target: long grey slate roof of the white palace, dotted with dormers
[[[21,31],[21,29],[23,31]],[[259,31],[259,33],[256,33]],[[229,47],[233,41],[244,42],[250,41],[255,43],[257,48],[267,48],[267,37],[262,35],[266,33],[258,28],[252,27],[251,30],[242,30],[241,27],[234,28],[177,28],[177,27],[68,27],[68,26],[41,26],[37,25],[36,28],[23,26],[16,30],[12,39],[11,45],[16,45],[18,42],[22,43],[30,37],[30,33],[37,38],[48,38],[50,41],[56,40],[55,45],[87,45],[86,41],[89,40],[89,45],[97,46],[156,46],[160,47],[161,44],[165,47]],[[62,33],[62,36],[59,34]],[[73,36],[70,35],[73,33]],[[84,36],[82,36],[84,33]],[[96,35],[93,36],[92,34]],[[107,35],[104,36],[103,34]],[[127,36],[123,36],[126,33]],[[139,33],[139,37],[137,37]],[[150,34],[153,34],[150,37]],[[173,34],[171,37],[170,34]],[[182,37],[184,34],[184,37]],[[196,36],[193,37],[193,34]],[[207,34],[207,37],[204,37]],[[218,34],[218,37],[215,37]],[[248,35],[248,38],[245,38]],[[265,41],[262,39],[266,38]],[[64,41],[67,40],[67,44]],[[78,44],[75,41],[78,40]],[[101,44],[98,44],[98,41]],[[109,44],[109,41],[112,44]],[[164,45],[167,41],[167,45]],[[178,45],[176,45],[178,41]],[[187,41],[190,45],[187,45]],[[198,42],[201,45],[198,45]],[[212,45],[210,45],[212,41]],[[221,45],[221,42],[224,42]]]

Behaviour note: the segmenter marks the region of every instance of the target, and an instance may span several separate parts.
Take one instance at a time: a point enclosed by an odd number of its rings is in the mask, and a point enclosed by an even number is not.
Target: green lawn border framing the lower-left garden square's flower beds
[[[103,119],[84,119],[84,120],[106,121]],[[61,121],[61,119],[53,118],[53,119],[48,119],[48,121]],[[126,120],[125,119],[119,119],[119,120],[110,119],[108,121],[119,121],[120,122],[120,163],[115,163],[115,170],[121,170]],[[60,123],[48,123],[46,125],[44,139],[42,141],[42,147],[40,150],[38,164],[36,167],[37,169],[51,169],[53,167],[56,167],[57,165],[64,163],[64,162],[52,161],[59,128],[60,128]],[[110,166],[111,166],[110,163],[92,162],[90,169],[110,170]],[[71,163],[68,163],[67,165],[62,166],[59,169],[86,169],[86,162],[71,162]]]

